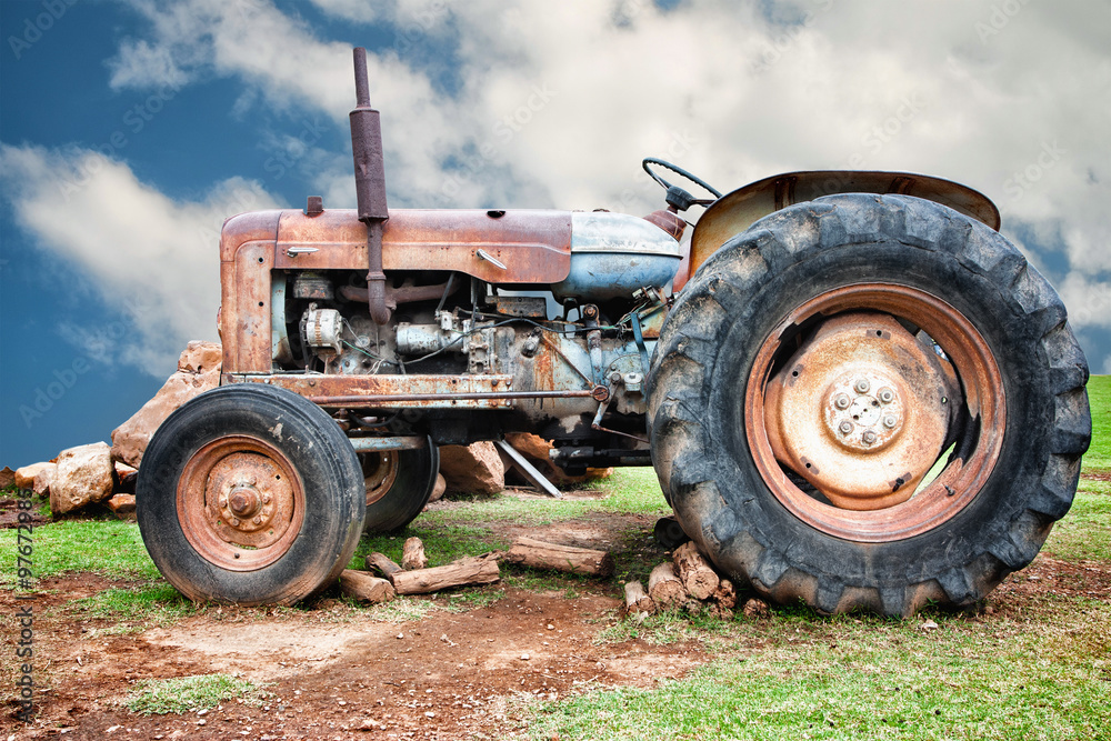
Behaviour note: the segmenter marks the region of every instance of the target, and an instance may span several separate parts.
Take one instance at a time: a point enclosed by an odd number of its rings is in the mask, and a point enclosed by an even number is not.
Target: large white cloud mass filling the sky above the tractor
[[[352,107],[348,46],[267,0],[131,2],[152,27],[143,53],[183,74],[237,77],[259,104],[337,122]],[[1035,262],[1063,250],[1067,302],[1103,321],[1088,307],[1111,270],[1107,3],[313,2],[410,43],[370,50],[393,206],[643,212],[662,201],[639,171],[648,154],[722,190],[859,161],[982,190],[1004,233],[1038,238]],[[407,57],[410,34],[456,44],[458,89]],[[348,168],[337,157],[316,184],[342,198]]]

